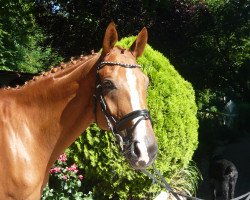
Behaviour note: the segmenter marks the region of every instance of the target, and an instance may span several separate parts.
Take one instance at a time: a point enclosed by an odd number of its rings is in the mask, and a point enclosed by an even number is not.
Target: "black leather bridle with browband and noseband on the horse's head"
[[[130,147],[132,150],[134,148],[134,144],[138,143],[139,141],[132,141],[132,135],[130,135],[130,133],[132,133],[132,131],[135,129],[135,127],[142,121],[142,120],[147,120],[149,119],[152,123],[151,117],[150,117],[150,113],[147,109],[142,109],[142,110],[135,110],[132,111],[128,114],[126,114],[124,117],[122,117],[121,119],[117,120],[114,116],[112,116],[110,114],[110,111],[108,109],[108,105],[105,101],[104,95],[103,95],[103,89],[102,89],[102,85],[101,85],[101,81],[100,81],[100,75],[99,75],[99,70],[101,68],[103,68],[105,65],[111,65],[111,66],[121,66],[121,67],[125,67],[125,68],[140,68],[140,65],[137,64],[124,64],[124,63],[119,63],[119,62],[108,62],[108,61],[104,61],[104,62],[100,62],[100,64],[97,66],[97,71],[96,71],[96,93],[94,95],[94,100],[95,100],[95,115],[96,115],[96,104],[99,101],[100,105],[101,105],[101,109],[102,112],[104,113],[105,119],[107,121],[108,127],[110,129],[110,131],[113,133],[113,135],[116,138],[116,142],[119,144],[121,151],[125,152],[125,148],[126,147]],[[131,122],[132,120],[138,118],[138,120],[136,121],[136,123],[132,126],[128,128],[124,128],[126,124],[128,124],[128,122]],[[97,122],[97,117],[96,117],[96,122]],[[124,139],[122,138],[122,136],[119,134],[119,132],[128,129],[128,134],[129,136],[126,137],[126,141],[124,142]]]

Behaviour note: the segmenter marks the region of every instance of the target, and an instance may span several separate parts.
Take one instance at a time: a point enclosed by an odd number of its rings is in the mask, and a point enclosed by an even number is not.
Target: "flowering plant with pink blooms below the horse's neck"
[[[83,175],[79,174],[79,169],[74,163],[67,166],[66,154],[60,155],[56,163],[50,169],[49,184],[44,188],[42,200],[87,200],[92,199],[80,191],[83,181]]]

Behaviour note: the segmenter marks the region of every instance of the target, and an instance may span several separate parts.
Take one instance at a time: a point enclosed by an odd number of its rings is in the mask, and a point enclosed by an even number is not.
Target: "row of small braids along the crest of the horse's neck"
[[[90,55],[81,55],[79,57],[71,57],[70,61],[68,62],[61,62],[58,66],[54,66],[52,67],[50,70],[46,71],[46,72],[41,72],[40,74],[38,74],[37,76],[34,76],[31,80],[26,81],[23,85],[16,85],[16,87],[4,87],[4,90],[16,90],[16,89],[21,89],[22,87],[26,86],[26,85],[30,85],[31,83],[33,83],[34,81],[38,81],[41,80],[43,78],[48,77],[51,74],[54,73],[58,73],[64,69],[68,69],[72,66],[75,66],[77,64],[84,64],[87,61],[89,61],[91,58],[93,58],[94,56],[96,56],[97,53],[92,52],[92,54]],[[1,89],[1,88],[0,88]]]

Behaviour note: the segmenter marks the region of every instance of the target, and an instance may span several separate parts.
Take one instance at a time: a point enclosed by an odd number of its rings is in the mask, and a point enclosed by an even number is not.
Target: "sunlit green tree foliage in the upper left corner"
[[[1,1],[0,69],[37,73],[59,60],[43,44],[45,36],[36,25],[32,5],[23,0]]]

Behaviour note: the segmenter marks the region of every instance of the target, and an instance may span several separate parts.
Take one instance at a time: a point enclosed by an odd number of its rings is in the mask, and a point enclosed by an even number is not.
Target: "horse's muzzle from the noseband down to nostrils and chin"
[[[128,116],[117,123],[116,141],[131,167],[145,169],[153,163],[158,151],[149,112],[140,110]],[[124,127],[123,124],[131,120],[133,125],[121,130],[120,127]]]

